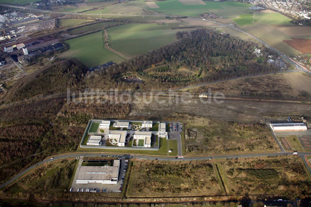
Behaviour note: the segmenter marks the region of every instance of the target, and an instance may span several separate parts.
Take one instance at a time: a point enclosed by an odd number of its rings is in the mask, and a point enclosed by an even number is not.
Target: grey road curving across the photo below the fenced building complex
[[[104,155],[110,155],[110,156],[114,156],[115,154],[104,154]],[[263,156],[279,156],[279,155],[293,155],[292,153],[289,152],[278,152],[278,153],[262,153],[262,154],[237,154],[237,155],[219,155],[219,156],[203,156],[203,157],[183,157],[183,158],[179,158],[179,157],[154,157],[154,156],[143,156],[143,155],[122,155],[125,157],[131,157],[131,158],[138,158],[138,159],[151,159],[151,160],[178,160],[178,161],[191,161],[191,160],[210,160],[210,159],[227,159],[227,158],[248,158],[248,157],[263,157]],[[298,155],[300,157],[304,157],[305,155],[310,155],[311,156],[311,152],[300,152],[298,153]],[[55,157],[53,157],[53,159],[45,159],[35,165],[30,166],[29,168],[27,168],[26,170],[22,171],[21,173],[18,173],[15,177],[13,177],[11,180],[8,180],[7,182],[3,183],[2,185],[0,185],[0,188],[3,188],[9,184],[11,184],[12,182],[14,182],[15,180],[17,180],[19,177],[21,177],[22,175],[24,175],[25,173],[27,173],[28,171],[36,168],[39,165],[45,164],[45,163],[49,163],[52,162],[56,159],[65,159],[65,158],[76,158],[76,157],[101,157],[103,156],[103,154],[64,154],[64,155],[56,155]],[[303,159],[304,160],[304,159]],[[304,161],[305,164],[307,164]],[[309,168],[309,165],[306,165],[308,172],[311,174],[311,169]]]

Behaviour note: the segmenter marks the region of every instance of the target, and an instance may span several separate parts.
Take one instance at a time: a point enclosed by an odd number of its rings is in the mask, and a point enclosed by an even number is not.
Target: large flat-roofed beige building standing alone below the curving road
[[[76,183],[117,184],[119,177],[120,160],[114,160],[113,166],[93,167],[80,166]]]

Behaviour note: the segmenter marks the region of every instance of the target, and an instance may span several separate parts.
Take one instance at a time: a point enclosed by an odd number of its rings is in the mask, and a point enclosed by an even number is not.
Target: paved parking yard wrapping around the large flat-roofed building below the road
[[[101,183],[76,184],[78,171],[83,161],[83,159],[81,158],[79,160],[78,167],[75,173],[75,177],[72,182],[72,186],[71,186],[72,192],[77,192],[78,189],[79,189],[79,192],[87,192],[87,189],[90,189],[90,190],[97,189],[97,192],[103,192],[104,190],[104,192],[107,192],[107,193],[108,192],[114,192],[114,193],[119,192],[120,186],[122,185],[121,183],[123,183],[123,177],[125,177],[125,173],[126,173],[126,171],[124,171],[124,168],[126,168],[125,157],[117,157],[117,155],[111,156],[111,157],[109,155],[102,155],[102,157],[107,157],[107,158],[109,157],[111,159],[116,159],[116,158],[121,159],[118,183],[117,184],[101,184]]]

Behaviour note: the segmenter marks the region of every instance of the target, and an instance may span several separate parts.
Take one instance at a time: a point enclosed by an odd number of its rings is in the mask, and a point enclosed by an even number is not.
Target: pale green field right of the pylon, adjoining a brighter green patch
[[[293,25],[289,21],[290,18],[280,14],[280,13],[263,13],[256,14],[255,19],[258,22],[263,24],[271,24],[271,25]]]

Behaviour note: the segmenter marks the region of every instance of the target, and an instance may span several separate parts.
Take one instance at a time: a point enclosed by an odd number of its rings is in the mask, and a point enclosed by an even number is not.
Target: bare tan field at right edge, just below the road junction
[[[299,93],[306,91],[311,95],[311,78],[302,73],[284,73],[282,74],[286,82]]]

